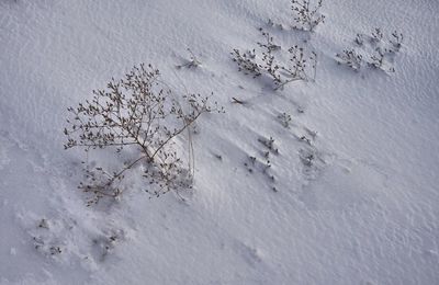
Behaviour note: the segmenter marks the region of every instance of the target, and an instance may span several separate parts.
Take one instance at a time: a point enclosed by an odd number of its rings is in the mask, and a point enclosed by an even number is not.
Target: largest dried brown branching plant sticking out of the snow
[[[160,72],[150,65],[134,67],[123,79],[112,79],[106,89],[93,91],[93,98],[77,107],[69,107],[65,148],[90,149],[134,148],[138,157],[124,163],[120,171],[103,168],[86,169],[87,181],[79,187],[92,193],[89,205],[104,196],[116,198],[122,193],[120,182],[125,172],[142,164],[143,176],[148,180],[146,192],[156,196],[183,184],[182,160],[173,139],[188,129],[200,115],[212,111],[223,112],[209,104],[207,96],[183,95],[188,112],[159,80]]]

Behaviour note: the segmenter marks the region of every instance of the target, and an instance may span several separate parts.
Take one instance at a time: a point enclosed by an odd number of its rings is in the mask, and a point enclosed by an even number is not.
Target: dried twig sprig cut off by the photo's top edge
[[[314,32],[319,23],[325,22],[325,15],[319,13],[323,0],[312,4],[311,0],[291,0],[291,10],[293,11],[294,29],[307,32]]]

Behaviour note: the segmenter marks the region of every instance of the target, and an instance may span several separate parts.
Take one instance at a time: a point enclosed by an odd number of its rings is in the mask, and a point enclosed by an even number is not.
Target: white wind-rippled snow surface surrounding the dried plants
[[[0,284],[439,284],[439,2],[324,1],[305,44],[316,81],[273,92],[229,53],[255,47],[260,26],[282,48],[303,45],[289,7],[0,0]],[[338,66],[375,26],[404,34],[396,71]],[[202,66],[176,69],[188,47]],[[149,198],[133,175],[121,201],[87,207],[66,109],[140,62],[178,95],[213,92],[226,113],[196,125],[192,191]],[[244,166],[269,137],[274,182]],[[187,151],[187,135],[177,142]]]

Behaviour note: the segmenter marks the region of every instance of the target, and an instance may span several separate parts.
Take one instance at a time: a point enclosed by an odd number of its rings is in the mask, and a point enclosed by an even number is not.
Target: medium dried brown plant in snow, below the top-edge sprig
[[[257,54],[256,49],[245,53],[234,49],[232,53],[233,61],[238,65],[238,71],[250,75],[252,78],[262,75],[269,77],[272,80],[274,90],[283,89],[285,84],[293,81],[315,79],[316,53],[311,52],[307,56],[303,47],[295,45],[288,49],[289,62],[280,64],[277,53],[281,50],[281,46],[274,44],[273,37],[268,32],[262,29],[259,29],[259,31],[266,39],[263,43],[257,43],[260,53]]]

